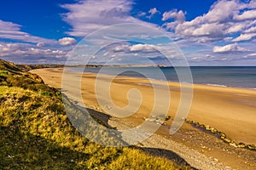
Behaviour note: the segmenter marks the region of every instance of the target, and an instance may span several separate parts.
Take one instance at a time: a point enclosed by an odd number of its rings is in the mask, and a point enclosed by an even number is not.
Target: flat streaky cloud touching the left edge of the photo
[[[49,44],[55,43],[55,40],[32,36],[24,31],[20,31],[20,28],[21,26],[18,24],[0,20],[0,38],[20,40],[22,42],[45,42]]]

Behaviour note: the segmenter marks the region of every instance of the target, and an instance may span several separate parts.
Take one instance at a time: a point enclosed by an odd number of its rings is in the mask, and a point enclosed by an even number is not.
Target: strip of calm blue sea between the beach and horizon
[[[147,77],[161,80],[159,75],[161,71],[167,81],[179,82],[177,72],[183,71],[184,67],[103,67],[101,74],[117,75],[125,77]],[[76,68],[77,71],[98,73],[102,68]],[[159,70],[160,69],[160,70]],[[129,71],[127,71],[129,70]],[[256,66],[191,66],[193,82],[198,84],[207,84],[212,86],[253,88],[256,89]],[[179,74],[180,75],[180,74]]]

